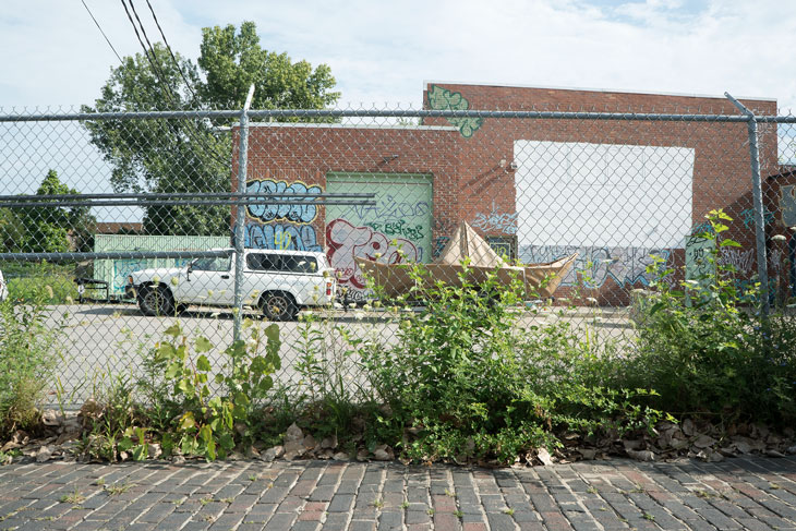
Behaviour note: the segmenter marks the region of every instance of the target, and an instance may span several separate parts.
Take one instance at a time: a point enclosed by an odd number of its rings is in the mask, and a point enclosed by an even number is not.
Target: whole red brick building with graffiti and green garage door
[[[744,104],[775,114],[774,100]],[[737,114],[723,97],[429,83],[427,109]],[[761,129],[776,167],[776,132]],[[421,125],[262,123],[250,129],[250,193],[373,192],[376,206],[248,208],[245,244],[326,250],[361,292],[353,256],[429,262],[461,220],[522,262],[577,251],[559,288],[624,304],[649,282],[650,255],[679,267],[704,214],[724,208],[741,250],[722,260],[753,271],[746,123],[433,118]],[[237,146],[237,142],[234,143]],[[233,180],[237,155],[233,156]],[[772,172],[772,171],[770,171]]]

